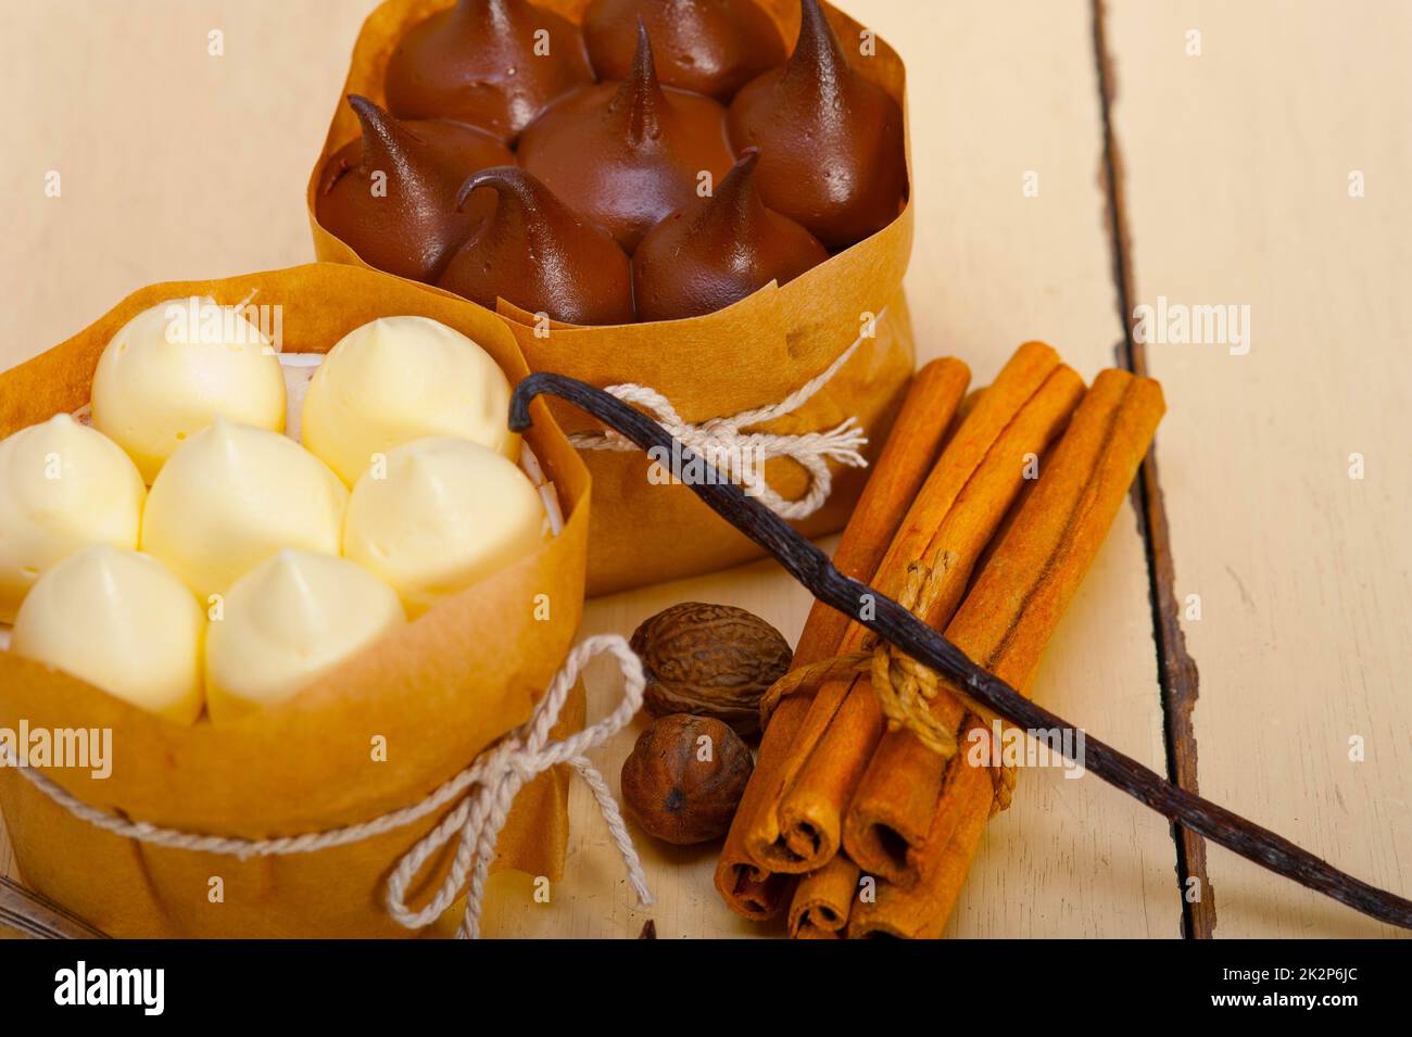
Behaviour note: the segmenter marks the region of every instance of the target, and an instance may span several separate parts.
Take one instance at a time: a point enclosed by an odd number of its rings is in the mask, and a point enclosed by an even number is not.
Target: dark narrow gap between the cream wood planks
[[[1111,54],[1104,32],[1106,0],[1091,0],[1093,56],[1099,72],[1099,104],[1103,111],[1103,189],[1107,199],[1108,237],[1113,247],[1113,282],[1117,289],[1118,322],[1123,341],[1117,344],[1118,363],[1137,375],[1148,374],[1147,347],[1132,337],[1132,251],[1127,210],[1123,199],[1123,158],[1113,130],[1113,100],[1117,96]],[[1196,731],[1192,711],[1200,690],[1196,660],[1186,650],[1180,612],[1176,604],[1176,570],[1172,563],[1171,528],[1162,502],[1162,484],[1156,471],[1156,444],[1142,460],[1141,477],[1132,487],[1134,505],[1142,526],[1142,545],[1148,562],[1148,595],[1152,602],[1152,636],[1156,641],[1158,684],[1162,691],[1162,735],[1166,746],[1168,777],[1182,789],[1199,792],[1196,768]],[[1209,940],[1216,931],[1216,896],[1206,875],[1206,839],[1182,825],[1172,825],[1176,845],[1178,895],[1182,897],[1182,934]],[[1190,879],[1196,879],[1200,897],[1187,897]]]

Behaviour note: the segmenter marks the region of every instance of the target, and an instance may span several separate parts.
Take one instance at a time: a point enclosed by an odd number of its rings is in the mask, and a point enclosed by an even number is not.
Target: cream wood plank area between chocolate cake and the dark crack
[[[1027,339],[1091,380],[1123,337],[1084,0],[868,6],[908,63],[918,236],[908,298],[923,357],[976,384]],[[1027,174],[1039,192],[1022,190]],[[1161,443],[1162,433],[1158,432]],[[1056,632],[1035,697],[1165,773],[1138,516],[1124,505]],[[1178,937],[1166,821],[1096,777],[1019,777],[984,837],[953,935]]]

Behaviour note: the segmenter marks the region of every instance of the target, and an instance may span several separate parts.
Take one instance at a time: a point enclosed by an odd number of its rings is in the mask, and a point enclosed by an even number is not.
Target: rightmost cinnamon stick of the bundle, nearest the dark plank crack
[[[949,641],[1015,689],[1028,694],[1049,636],[1107,538],[1163,409],[1155,381],[1125,371],[1099,375],[946,628]],[[955,711],[940,697],[936,705]],[[945,927],[994,801],[988,769],[971,766],[962,753],[942,789],[945,768],[908,732],[890,734],[878,746],[870,763],[875,787],[919,783],[939,792],[925,818],[925,804],[915,799],[873,818],[878,844],[905,847],[898,858],[905,873],[880,885],[874,903],[858,906],[850,935],[926,937]],[[915,815],[897,824],[904,810]],[[916,831],[923,832],[921,839]]]

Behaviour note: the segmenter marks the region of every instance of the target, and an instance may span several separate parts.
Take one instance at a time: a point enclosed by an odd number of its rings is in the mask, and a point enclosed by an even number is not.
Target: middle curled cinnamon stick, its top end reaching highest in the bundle
[[[1083,382],[1059,364],[1043,343],[1027,343],[981,394],[942,451],[918,494],[874,586],[898,597],[908,566],[931,559],[946,581],[939,626],[960,601],[970,569],[1024,485],[1025,454],[1039,453],[1077,402]],[[871,642],[854,622],[842,652]],[[747,834],[747,848],[775,871],[815,871],[842,845],[843,811],[853,796],[884,718],[868,677],[825,683],[795,739],[795,777],[771,817],[762,811]],[[786,776],[791,768],[784,769]],[[933,800],[935,803],[935,800]],[[861,863],[861,862],[860,862]]]

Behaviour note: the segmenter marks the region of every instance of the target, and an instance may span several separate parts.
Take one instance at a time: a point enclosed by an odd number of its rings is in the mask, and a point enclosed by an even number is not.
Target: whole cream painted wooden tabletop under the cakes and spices
[[[141,285],[311,260],[304,183],[373,6],[3,0],[0,368]],[[1086,377],[1134,364],[1166,389],[1149,492],[1114,523],[1036,697],[1158,770],[1171,746],[1204,794],[1408,893],[1412,7],[842,6],[909,68],[921,357],[959,356],[984,384],[1038,337]],[[1134,343],[1135,308],[1159,299],[1248,306],[1248,350]],[[583,632],[682,600],[791,639],[808,611],[757,564],[593,601]],[[593,674],[590,708],[613,693]],[[596,753],[614,787],[634,734]],[[640,838],[658,903],[637,909],[582,787],[572,811],[552,902],[498,876],[487,934],[774,931],[720,904],[714,848]],[[1197,935],[1395,934],[1199,839],[1179,852],[1158,815],[1052,770],[1021,775],[950,933],[1179,937],[1183,917]]]

